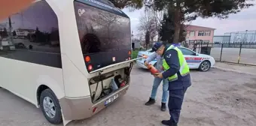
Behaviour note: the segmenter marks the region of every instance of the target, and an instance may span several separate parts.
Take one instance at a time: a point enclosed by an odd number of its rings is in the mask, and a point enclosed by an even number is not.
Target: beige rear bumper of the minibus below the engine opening
[[[129,89],[129,84],[117,90],[113,94],[109,95],[107,98],[103,98],[101,101],[93,104],[90,96],[85,98],[61,98],[59,99],[59,104],[62,107],[62,115],[65,120],[79,120],[84,118],[89,118],[96,113],[99,113],[100,110],[103,110],[105,106],[105,101],[108,98],[111,98],[114,95],[119,95],[116,99],[126,94],[126,91]],[[115,102],[115,101],[113,101]],[[108,105],[107,105],[108,106]],[[93,113],[93,109],[97,108]]]

